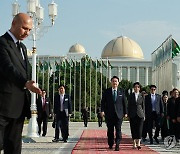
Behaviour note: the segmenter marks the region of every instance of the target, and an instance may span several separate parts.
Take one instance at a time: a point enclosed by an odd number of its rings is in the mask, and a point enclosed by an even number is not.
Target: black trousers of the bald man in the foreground
[[[21,154],[24,117],[18,119],[0,116],[0,150],[4,154]]]

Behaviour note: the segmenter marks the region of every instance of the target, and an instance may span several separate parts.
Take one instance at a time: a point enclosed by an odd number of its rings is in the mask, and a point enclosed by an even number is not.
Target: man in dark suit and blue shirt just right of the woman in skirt
[[[148,123],[148,134],[150,139],[150,144],[153,144],[153,123],[155,123],[155,134],[154,139],[157,144],[159,144],[158,136],[160,131],[161,117],[163,116],[163,104],[161,101],[161,96],[156,94],[156,86],[150,86],[150,94],[145,97],[145,117]]]

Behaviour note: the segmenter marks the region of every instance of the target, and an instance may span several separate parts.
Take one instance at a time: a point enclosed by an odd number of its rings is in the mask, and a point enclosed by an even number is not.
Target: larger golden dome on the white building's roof
[[[121,36],[111,40],[103,49],[102,58],[144,59],[140,46],[132,39]]]

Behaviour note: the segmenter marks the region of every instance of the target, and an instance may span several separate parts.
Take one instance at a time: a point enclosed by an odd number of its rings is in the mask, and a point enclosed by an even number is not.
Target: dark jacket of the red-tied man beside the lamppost
[[[47,97],[45,98],[45,112],[46,112],[46,115],[49,116],[49,114],[51,114],[51,101],[50,99]],[[42,97],[38,97],[37,101],[37,111],[38,111],[38,115],[41,115],[43,113],[43,107],[42,107]]]

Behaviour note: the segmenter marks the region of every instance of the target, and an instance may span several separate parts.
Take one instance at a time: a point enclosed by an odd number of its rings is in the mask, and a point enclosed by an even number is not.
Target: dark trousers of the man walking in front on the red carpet
[[[106,119],[107,123],[107,136],[108,136],[108,145],[113,146],[114,144],[114,127],[116,130],[116,138],[115,138],[115,143],[116,145],[120,144],[120,141],[122,139],[122,134],[121,134],[121,125],[122,125],[122,119],[119,119],[114,113],[114,116],[110,119]]]

